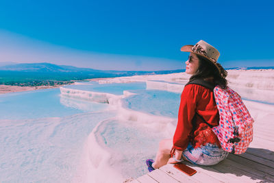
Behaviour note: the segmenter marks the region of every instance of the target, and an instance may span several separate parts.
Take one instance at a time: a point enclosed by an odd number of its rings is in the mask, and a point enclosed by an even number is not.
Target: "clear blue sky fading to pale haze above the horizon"
[[[219,62],[274,66],[272,1],[1,1],[0,62],[184,69],[206,40]],[[1,64],[1,63],[0,63]]]

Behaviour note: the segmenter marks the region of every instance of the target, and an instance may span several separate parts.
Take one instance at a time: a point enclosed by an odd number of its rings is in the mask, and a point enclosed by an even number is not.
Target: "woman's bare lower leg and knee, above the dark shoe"
[[[173,147],[173,139],[164,139],[160,141],[155,162],[153,162],[152,164],[152,167],[154,169],[158,169],[164,166],[168,162],[172,147]]]

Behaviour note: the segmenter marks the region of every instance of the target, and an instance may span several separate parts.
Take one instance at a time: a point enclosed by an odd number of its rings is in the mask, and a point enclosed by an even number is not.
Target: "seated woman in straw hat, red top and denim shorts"
[[[190,52],[186,61],[186,73],[192,76],[181,95],[173,139],[164,139],[160,142],[155,162],[151,159],[146,161],[149,171],[182,160],[188,160],[193,164],[213,165],[228,155],[208,126],[219,125],[219,112],[213,91],[199,84],[190,84],[199,79],[209,82],[212,86],[227,87],[227,71],[217,63],[220,53],[203,40],[194,46],[186,45],[181,51]]]

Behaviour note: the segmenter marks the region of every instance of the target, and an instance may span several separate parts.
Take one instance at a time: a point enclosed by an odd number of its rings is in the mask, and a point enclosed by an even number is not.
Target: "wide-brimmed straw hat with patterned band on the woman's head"
[[[219,66],[216,64],[220,53],[216,48],[208,44],[208,42],[200,40],[199,42],[197,42],[196,45],[185,45],[181,48],[181,51],[192,52],[199,56],[207,58],[216,66],[216,68],[221,73]]]

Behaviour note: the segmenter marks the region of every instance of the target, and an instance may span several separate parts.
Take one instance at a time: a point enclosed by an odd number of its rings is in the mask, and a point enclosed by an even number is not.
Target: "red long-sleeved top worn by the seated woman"
[[[206,143],[219,145],[218,138],[211,128],[203,123],[201,117],[212,126],[219,125],[214,93],[204,86],[188,84],[181,95],[178,123],[173,136],[173,151],[186,149],[188,143],[192,143],[194,148]]]

